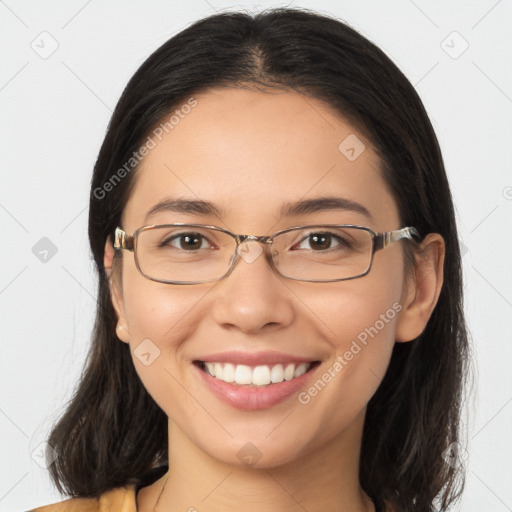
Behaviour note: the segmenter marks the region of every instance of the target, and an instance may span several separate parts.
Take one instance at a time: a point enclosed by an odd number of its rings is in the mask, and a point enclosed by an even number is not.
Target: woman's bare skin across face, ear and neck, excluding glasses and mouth
[[[171,195],[212,201],[226,213],[162,212],[147,224],[213,224],[257,235],[315,223],[362,224],[379,232],[403,227],[371,143],[325,104],[295,92],[234,88],[195,98],[197,106],[137,170],[122,216],[128,234]],[[355,161],[338,150],[350,134],[366,146]],[[341,210],[278,216],[285,202],[324,195],[363,204],[375,221]],[[133,253],[123,251],[122,275],[112,285],[118,336],[132,355],[144,339],[158,346],[151,365],[137,357],[133,362],[169,418],[170,470],[138,493],[138,509],[153,510],[159,499],[157,510],[172,512],[225,512],[241,503],[246,512],[373,510],[358,479],[366,405],[394,343],[424,330],[442,286],[444,251],[442,237],[429,234],[412,279],[406,279],[397,242],[377,252],[370,273],[354,280],[292,281],[260,256],[240,260],[222,281],[190,286],[144,278]],[[112,256],[107,240],[109,272]],[[218,400],[192,371],[200,355],[278,350],[321,360],[321,376],[394,303],[401,311],[307,405],[292,396],[268,409],[242,411]],[[248,442],[261,453],[252,467],[237,456]]]

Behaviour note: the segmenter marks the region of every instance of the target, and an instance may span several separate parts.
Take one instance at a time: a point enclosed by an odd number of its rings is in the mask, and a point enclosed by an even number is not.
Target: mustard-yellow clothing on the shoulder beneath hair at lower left
[[[116,487],[99,498],[69,498],[28,512],[137,512],[135,484]]]

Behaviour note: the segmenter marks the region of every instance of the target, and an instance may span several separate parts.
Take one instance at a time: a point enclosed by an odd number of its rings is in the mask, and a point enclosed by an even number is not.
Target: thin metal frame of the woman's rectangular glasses
[[[229,236],[231,236],[235,242],[236,242],[236,248],[234,255],[231,257],[231,264],[229,266],[229,269],[227,272],[217,279],[210,279],[207,281],[166,281],[163,279],[156,279],[154,277],[148,276],[145,274],[139,265],[139,260],[137,257],[137,240],[139,237],[139,234],[143,231],[149,231],[155,228],[163,228],[163,227],[175,227],[175,226],[187,226],[187,227],[196,227],[196,228],[208,228],[213,229],[216,231],[220,231],[222,233],[225,233]],[[138,229],[136,229],[132,235],[128,235],[126,231],[124,231],[123,228],[117,227],[115,230],[115,237],[114,237],[114,249],[116,250],[122,250],[126,249],[128,251],[131,251],[134,253],[134,259],[135,259],[135,265],[138,269],[138,271],[146,278],[151,281],[156,281],[157,283],[164,283],[164,284],[204,284],[204,283],[212,283],[216,281],[221,281],[222,279],[225,279],[228,277],[231,272],[233,272],[236,264],[238,263],[240,259],[240,254],[238,253],[238,247],[246,242],[247,240],[253,240],[255,242],[260,242],[265,245],[265,247],[272,247],[272,243],[274,241],[274,238],[278,235],[281,235],[283,233],[287,233],[289,231],[293,230],[299,230],[304,228],[356,228],[363,231],[367,231],[370,234],[371,240],[372,240],[372,252],[370,256],[370,263],[368,264],[368,268],[356,276],[352,277],[342,277],[341,279],[298,279],[295,277],[288,277],[284,274],[282,274],[276,267],[274,263],[274,258],[272,256],[272,251],[264,251],[265,252],[265,258],[268,261],[270,267],[281,277],[284,277],[285,279],[292,279],[294,281],[306,281],[306,282],[312,282],[312,283],[332,283],[337,281],[348,281],[351,279],[357,279],[359,277],[363,277],[367,275],[370,272],[370,269],[372,268],[373,264],[373,257],[374,254],[377,251],[380,251],[381,249],[385,249],[386,247],[389,247],[391,244],[394,244],[398,240],[401,240],[403,238],[414,240],[413,237],[416,237],[420,239],[420,234],[418,230],[414,227],[404,227],[401,229],[396,229],[394,231],[385,231],[382,233],[378,233],[374,231],[373,229],[367,227],[367,226],[360,226],[357,224],[311,224],[306,226],[294,226],[287,229],[282,229],[281,231],[277,231],[276,233],[268,236],[256,236],[256,235],[241,235],[241,234],[235,234],[231,231],[228,231],[227,229],[220,228],[218,226],[209,226],[205,224],[188,224],[188,223],[175,223],[175,224],[153,224],[149,226],[142,226]]]

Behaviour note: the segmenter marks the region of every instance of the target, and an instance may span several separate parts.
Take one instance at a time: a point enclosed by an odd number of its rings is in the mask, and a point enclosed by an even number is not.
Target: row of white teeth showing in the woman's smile
[[[205,361],[194,361],[194,364],[211,377],[230,384],[265,387],[296,379],[316,368],[320,361],[258,366]]]

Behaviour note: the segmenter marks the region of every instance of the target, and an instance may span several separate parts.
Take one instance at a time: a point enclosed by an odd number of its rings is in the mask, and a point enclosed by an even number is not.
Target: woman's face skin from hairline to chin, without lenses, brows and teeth
[[[124,209],[128,234],[176,222],[254,235],[313,224],[403,227],[370,142],[325,104],[292,92],[240,89],[195,99],[168,133],[158,132],[161,140],[153,137],[156,146],[137,170]],[[146,218],[163,199],[178,197],[208,201],[222,214],[162,210]],[[370,216],[341,208],[280,216],[285,204],[320,197],[359,203]],[[407,293],[401,242],[378,251],[368,275],[331,283],[282,278],[254,254],[224,280],[169,285],[143,277],[133,253],[123,251],[122,290],[114,300],[124,326],[118,334],[172,427],[215,459],[242,465],[252,455],[270,467],[357,438]],[[261,360],[249,364],[244,355]],[[238,360],[272,370],[297,359],[319,361],[298,387],[285,380],[240,392],[236,384],[215,391],[219,379],[197,365],[231,361],[236,368]],[[248,392],[258,398],[243,405],[241,393]]]

